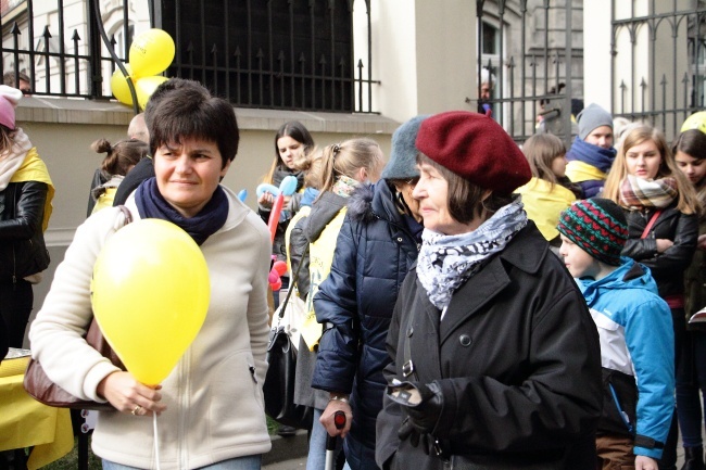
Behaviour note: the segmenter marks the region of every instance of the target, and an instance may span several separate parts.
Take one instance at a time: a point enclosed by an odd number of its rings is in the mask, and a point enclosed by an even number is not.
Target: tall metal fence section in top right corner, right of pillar
[[[671,140],[704,109],[705,3],[613,0],[614,116],[652,124]]]

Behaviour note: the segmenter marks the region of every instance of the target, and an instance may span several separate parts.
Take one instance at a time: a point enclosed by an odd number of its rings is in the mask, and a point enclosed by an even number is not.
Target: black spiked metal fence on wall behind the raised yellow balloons
[[[354,27],[354,4],[365,9],[366,24]],[[0,73],[25,73],[39,96],[109,99],[117,65],[101,28],[117,60],[127,62],[133,37],[159,27],[176,43],[165,75],[199,80],[234,105],[373,113],[379,81],[370,67],[370,0],[10,1],[0,25]],[[354,31],[367,38],[356,40]]]

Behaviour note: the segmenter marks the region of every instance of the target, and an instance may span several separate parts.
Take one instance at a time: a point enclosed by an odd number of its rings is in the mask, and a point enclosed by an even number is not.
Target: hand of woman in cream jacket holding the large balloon
[[[135,416],[160,416],[166,405],[160,403],[162,385],[149,388],[129,372],[113,372],[98,384],[97,392],[108,399],[118,411]]]

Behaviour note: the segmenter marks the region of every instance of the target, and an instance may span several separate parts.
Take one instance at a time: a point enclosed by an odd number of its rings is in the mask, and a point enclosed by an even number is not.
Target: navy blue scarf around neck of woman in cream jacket
[[[228,198],[218,186],[213,196],[193,217],[186,218],[166,202],[156,186],[156,179],[144,180],[135,194],[137,209],[142,218],[161,218],[177,225],[189,233],[198,245],[215,233],[228,218]]]

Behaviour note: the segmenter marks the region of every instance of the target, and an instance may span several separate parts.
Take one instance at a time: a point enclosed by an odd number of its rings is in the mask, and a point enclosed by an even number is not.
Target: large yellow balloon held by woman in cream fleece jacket
[[[141,219],[111,237],[93,268],[91,301],[103,335],[140,382],[156,385],[199,333],[209,269],[184,230]]]

